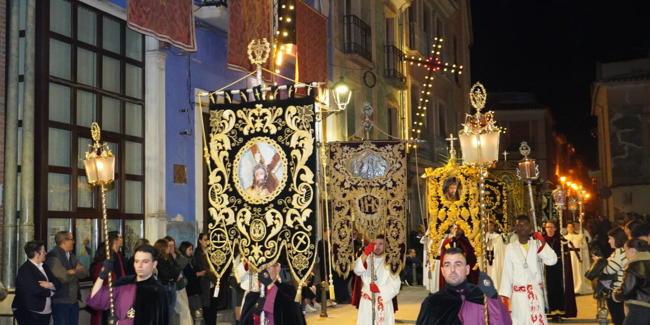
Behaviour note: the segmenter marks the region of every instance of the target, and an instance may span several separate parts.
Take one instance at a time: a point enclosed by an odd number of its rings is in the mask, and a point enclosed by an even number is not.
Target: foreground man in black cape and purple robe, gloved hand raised
[[[510,325],[508,308],[499,299],[492,279],[480,272],[478,286],[467,282],[469,265],[463,250],[452,247],[441,257],[447,286],[422,302],[416,325],[485,324],[484,298],[490,324]]]

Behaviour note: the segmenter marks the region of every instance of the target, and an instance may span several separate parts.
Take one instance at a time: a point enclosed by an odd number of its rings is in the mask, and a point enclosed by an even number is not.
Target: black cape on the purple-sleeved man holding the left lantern
[[[136,291],[133,303],[135,310],[133,325],[168,325],[169,296],[162,284],[153,276],[144,281],[136,281],[136,276],[123,276],[117,279],[112,287],[134,283]]]

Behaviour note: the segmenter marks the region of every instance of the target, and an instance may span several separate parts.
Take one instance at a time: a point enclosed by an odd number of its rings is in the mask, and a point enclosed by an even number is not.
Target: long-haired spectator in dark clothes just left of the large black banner
[[[211,297],[214,294],[216,276],[210,268],[210,261],[208,261],[207,252],[205,252],[207,242],[207,233],[200,233],[196,250],[194,251],[194,261],[196,263],[196,272],[205,271],[204,275],[199,277],[199,284],[201,285],[201,307],[203,308],[205,325],[216,325],[216,306],[210,304]]]

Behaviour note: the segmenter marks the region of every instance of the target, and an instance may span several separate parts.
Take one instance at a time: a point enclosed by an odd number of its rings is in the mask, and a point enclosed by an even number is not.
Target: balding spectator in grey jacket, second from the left
[[[75,239],[68,231],[59,231],[54,236],[57,244],[47,253],[45,264],[61,281],[61,288],[52,296],[52,318],[54,325],[78,325],[81,289],[79,279],[88,277],[88,269],[79,263],[72,250]]]

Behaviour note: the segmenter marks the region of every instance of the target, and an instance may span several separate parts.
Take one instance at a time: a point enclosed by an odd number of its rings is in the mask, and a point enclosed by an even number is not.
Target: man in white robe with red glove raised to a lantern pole
[[[510,298],[512,324],[546,325],[546,311],[538,257],[545,265],[555,265],[558,257],[541,233],[530,238],[530,218],[517,216],[515,231],[519,240],[506,246],[499,294]]]

